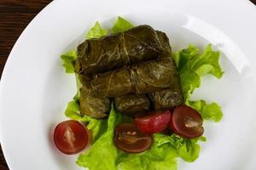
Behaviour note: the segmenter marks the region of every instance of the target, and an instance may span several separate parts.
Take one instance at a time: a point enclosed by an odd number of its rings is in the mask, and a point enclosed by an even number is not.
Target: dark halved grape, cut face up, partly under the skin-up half
[[[139,153],[148,150],[151,137],[142,133],[134,123],[121,123],[115,127],[114,144],[119,150]]]

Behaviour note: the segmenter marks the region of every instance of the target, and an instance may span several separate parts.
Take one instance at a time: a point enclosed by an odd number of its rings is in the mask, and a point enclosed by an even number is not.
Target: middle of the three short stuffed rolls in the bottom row
[[[150,100],[146,94],[127,94],[114,98],[114,105],[120,113],[134,115],[150,110]]]

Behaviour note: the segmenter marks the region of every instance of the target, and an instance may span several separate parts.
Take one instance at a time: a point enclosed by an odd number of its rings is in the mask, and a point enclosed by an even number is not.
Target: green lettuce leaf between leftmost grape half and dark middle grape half
[[[90,170],[115,170],[118,150],[113,144],[113,131],[118,120],[118,113],[113,109],[108,116],[108,129],[96,140],[84,154],[80,154],[77,164]]]

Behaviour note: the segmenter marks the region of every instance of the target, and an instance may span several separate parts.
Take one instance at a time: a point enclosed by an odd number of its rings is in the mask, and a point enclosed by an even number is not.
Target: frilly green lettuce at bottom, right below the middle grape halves
[[[153,144],[143,153],[128,154],[119,151],[116,164],[122,170],[176,170],[177,150],[171,143],[162,144],[162,139],[158,134],[154,134]]]

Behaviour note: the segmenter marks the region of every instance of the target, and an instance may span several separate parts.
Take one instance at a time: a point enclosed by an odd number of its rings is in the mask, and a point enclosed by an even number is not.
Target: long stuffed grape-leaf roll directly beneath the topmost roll
[[[99,96],[107,98],[147,94],[169,88],[178,80],[177,68],[173,67],[169,55],[96,75],[90,88]]]

